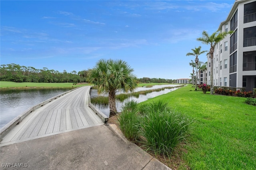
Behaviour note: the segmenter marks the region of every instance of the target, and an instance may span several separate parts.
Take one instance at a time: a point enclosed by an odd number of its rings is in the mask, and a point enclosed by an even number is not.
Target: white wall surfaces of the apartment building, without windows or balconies
[[[236,10],[238,11],[238,26],[236,28],[237,34],[237,49],[232,53],[237,52],[237,66],[236,66],[236,87],[243,87],[243,76],[244,75],[256,75],[256,70],[254,71],[243,71],[243,53],[246,51],[256,51],[256,46],[243,47],[243,39],[244,39],[244,28],[254,27],[256,26],[256,21],[248,22],[244,24],[244,4],[248,4],[250,2],[255,2],[255,0],[236,0],[230,14],[228,15],[226,21],[220,24],[219,30],[221,32],[225,32],[225,24],[228,23],[228,31],[230,31],[230,20],[234,16]],[[226,36],[224,40],[217,43],[214,49],[214,62],[210,63],[210,57],[208,55],[208,70],[207,70],[207,84],[210,85],[210,67],[209,63],[214,68],[213,78],[214,78],[214,86],[225,86],[224,85],[224,77],[227,77],[226,86],[230,86],[230,36]],[[228,42],[228,50],[225,51],[225,42]],[[222,45],[222,51],[220,46]],[[227,68],[225,69],[225,60],[227,60]],[[218,73],[217,73],[218,71]],[[220,84],[221,82],[221,84]]]

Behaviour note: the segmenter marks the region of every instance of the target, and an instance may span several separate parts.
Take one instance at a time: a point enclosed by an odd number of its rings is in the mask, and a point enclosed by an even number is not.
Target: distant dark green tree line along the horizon
[[[12,81],[16,83],[34,82],[34,83],[84,83],[89,82],[88,73],[91,69],[82,71],[66,70],[60,72],[53,69],[43,67],[36,69],[34,67],[26,67],[18,64],[0,65],[0,81]],[[141,83],[176,83],[175,79],[161,78],[136,78],[137,82]]]

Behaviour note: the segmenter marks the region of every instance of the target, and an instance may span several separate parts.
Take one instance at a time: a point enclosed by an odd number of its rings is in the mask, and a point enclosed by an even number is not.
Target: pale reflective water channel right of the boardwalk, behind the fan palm
[[[153,98],[153,97],[156,97],[156,96],[159,96],[159,95],[163,95],[163,94],[166,94],[166,93],[169,93],[171,91],[174,91],[180,87],[176,87],[178,85],[155,85],[153,87],[138,87],[136,89],[136,91],[145,91],[145,90],[152,90],[152,89],[160,89],[160,88],[164,88],[164,87],[174,87],[172,89],[164,89],[164,90],[161,90],[161,91],[154,91],[152,93],[148,93],[146,95],[140,95],[139,97],[128,97],[127,99],[125,99],[124,101],[117,101],[116,100],[116,109],[118,112],[121,111],[122,109],[122,106],[124,105],[124,103],[128,102],[128,101],[131,101],[131,100],[134,100],[136,101],[137,103],[140,103],[140,102],[143,102],[143,101],[146,101],[150,98]],[[117,94],[120,94],[120,92],[118,92]],[[97,94],[97,89],[91,89],[90,90],[90,97],[93,98],[93,97],[98,97],[99,95]],[[108,96],[108,94],[103,94],[103,96]],[[102,113],[104,113],[106,116],[109,116],[109,107],[108,105],[100,105],[100,104],[94,104],[100,111],[102,111]]]

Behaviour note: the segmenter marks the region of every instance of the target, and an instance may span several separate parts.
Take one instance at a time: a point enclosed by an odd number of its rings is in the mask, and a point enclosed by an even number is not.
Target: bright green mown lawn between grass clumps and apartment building
[[[179,169],[255,170],[256,107],[245,99],[203,94],[188,85],[145,102],[163,100],[196,118]]]

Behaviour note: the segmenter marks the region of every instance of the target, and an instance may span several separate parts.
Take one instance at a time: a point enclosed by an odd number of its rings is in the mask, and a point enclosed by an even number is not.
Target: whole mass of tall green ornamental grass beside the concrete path
[[[194,122],[172,111],[163,101],[144,105],[131,101],[123,107],[118,121],[128,140],[139,142],[147,151],[169,158],[174,148],[186,140]]]

